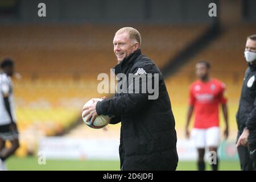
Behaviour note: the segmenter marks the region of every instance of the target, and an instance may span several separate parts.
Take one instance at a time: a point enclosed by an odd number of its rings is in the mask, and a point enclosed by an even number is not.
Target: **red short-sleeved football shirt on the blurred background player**
[[[194,106],[197,129],[207,129],[218,126],[218,106],[226,104],[224,97],[225,84],[212,79],[208,82],[198,80],[189,88],[189,105]]]

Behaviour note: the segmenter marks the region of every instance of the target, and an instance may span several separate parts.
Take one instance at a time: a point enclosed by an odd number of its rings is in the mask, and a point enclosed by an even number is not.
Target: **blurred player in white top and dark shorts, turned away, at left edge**
[[[14,114],[13,83],[14,62],[5,59],[1,63],[0,73],[0,170],[6,170],[5,160],[19,147],[18,129]],[[6,148],[6,140],[11,147]]]

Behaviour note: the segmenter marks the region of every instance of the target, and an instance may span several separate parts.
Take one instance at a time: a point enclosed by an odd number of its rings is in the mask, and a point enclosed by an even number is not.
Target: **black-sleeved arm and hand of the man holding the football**
[[[129,86],[127,93],[118,94],[117,97],[110,98],[104,101],[95,101],[94,104],[90,105],[88,108],[84,108],[88,109],[88,112],[92,115],[92,121],[94,118],[97,117],[97,115],[101,114],[122,115],[138,112],[139,109],[143,107],[143,105],[147,104],[148,100],[151,100],[152,94],[149,93],[148,90],[146,90],[146,93],[141,91],[147,89],[148,83],[151,82],[151,88],[154,88],[155,92],[155,88],[159,86],[159,76],[155,77],[154,73],[146,68],[137,68],[132,74],[134,78],[132,79],[133,81],[129,81],[128,83]],[[149,82],[148,79],[150,80]],[[157,80],[157,83],[155,83],[155,80]],[[158,93],[158,90],[156,93]],[[154,97],[152,98],[156,99]]]

